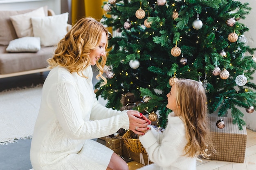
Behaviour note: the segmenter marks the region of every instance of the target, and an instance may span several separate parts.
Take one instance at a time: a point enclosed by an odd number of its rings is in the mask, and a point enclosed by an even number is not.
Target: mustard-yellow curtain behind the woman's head
[[[83,17],[92,17],[97,20],[106,15],[106,12],[101,8],[106,0],[72,0],[71,17],[74,25],[77,20]]]

